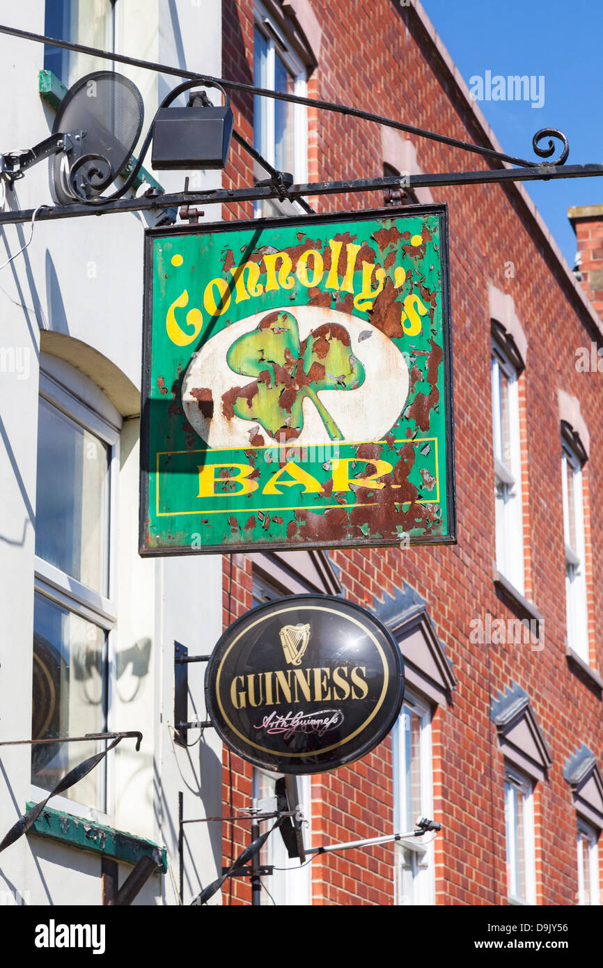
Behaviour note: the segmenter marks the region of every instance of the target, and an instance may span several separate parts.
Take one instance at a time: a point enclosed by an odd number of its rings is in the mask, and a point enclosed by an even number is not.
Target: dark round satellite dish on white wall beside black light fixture
[[[124,169],[142,130],[144,107],[128,77],[95,71],[70,87],[56,112],[53,136],[63,151],[49,159],[56,204],[94,201]]]

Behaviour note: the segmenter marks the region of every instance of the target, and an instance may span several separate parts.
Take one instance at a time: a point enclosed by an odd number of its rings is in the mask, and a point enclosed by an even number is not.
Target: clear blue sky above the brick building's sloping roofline
[[[601,0],[422,2],[467,84],[471,76],[485,77],[487,71],[492,76],[544,76],[542,107],[531,107],[529,101],[479,102],[504,151],[536,160],[532,136],[540,128],[558,128],[569,141],[566,164],[603,162]],[[467,154],[465,167],[470,162]],[[576,237],[567,209],[603,203],[603,176],[524,185],[573,266]]]

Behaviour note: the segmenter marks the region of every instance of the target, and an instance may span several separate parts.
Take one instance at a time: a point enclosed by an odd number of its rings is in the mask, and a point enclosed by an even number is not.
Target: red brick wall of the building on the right
[[[287,6],[287,5],[286,5]],[[422,128],[493,146],[492,132],[467,95],[418,4],[393,0],[308,0],[321,28],[309,97],[361,106]],[[350,7],[353,15],[350,15]],[[223,74],[253,83],[253,0],[224,0]],[[290,8],[289,8],[290,9]],[[301,17],[301,14],[300,14]],[[253,98],[232,95],[238,130],[253,140]],[[406,136],[400,135],[402,140]],[[423,171],[487,168],[479,155],[410,138]],[[525,155],[525,145],[514,145]],[[385,163],[376,124],[309,110],[309,180],[380,176]],[[226,187],[253,183],[248,156],[233,143]],[[555,191],[555,183],[551,183]],[[595,191],[595,187],[593,187]],[[603,761],[601,689],[566,656],[565,558],[558,391],[579,401],[589,434],[586,486],[590,666],[603,674],[603,439],[601,376],[579,372],[576,351],[602,344],[599,319],[562,261],[548,230],[518,186],[433,189],[447,202],[454,364],[458,544],[440,548],[329,552],[345,595],[376,609],[406,583],[426,602],[456,677],[432,721],[437,904],[506,904],[504,756],[491,718],[497,695],[516,682],[528,694],[553,764],[534,789],[536,902],[575,904],[576,808],[563,777],[583,742]],[[380,193],[310,199],[318,212],[381,207]],[[225,218],[249,218],[251,205]],[[581,223],[600,256],[601,220]],[[603,264],[603,263],[602,263]],[[511,267],[511,271],[510,270]],[[544,648],[532,643],[471,644],[471,620],[487,613],[524,619],[493,580],[496,560],[491,316],[489,286],[511,295],[528,341],[519,378],[526,583],[544,616]],[[600,297],[601,292],[587,295]],[[600,287],[599,287],[600,288]],[[603,303],[597,304],[603,311]],[[252,606],[251,557],[224,559],[224,622]],[[224,751],[224,812],[249,806],[252,768]],[[313,777],[314,843],[393,830],[391,738],[351,767]],[[224,825],[224,862],[249,843],[249,823]],[[599,854],[603,851],[599,850]],[[394,903],[392,845],[329,856],[313,864],[313,903]],[[232,878],[224,903],[249,904],[249,880]]]

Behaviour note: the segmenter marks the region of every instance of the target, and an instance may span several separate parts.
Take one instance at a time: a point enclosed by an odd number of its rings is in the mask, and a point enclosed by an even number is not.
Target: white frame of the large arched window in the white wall
[[[57,369],[58,367],[58,369]],[[72,385],[68,386],[70,383]],[[91,381],[83,377],[69,364],[41,356],[40,399],[64,413],[85,430],[102,439],[110,448],[107,469],[108,504],[108,594],[89,589],[71,575],[66,574],[39,556],[35,556],[34,591],[43,595],[62,608],[68,609],[79,618],[91,621],[106,631],[106,730],[110,731],[112,703],[115,681],[115,623],[117,620],[117,582],[115,552],[117,548],[117,482],[119,475],[119,434],[121,418],[117,410],[106,400],[101,391],[93,386],[93,400],[84,402],[87,397],[87,384]],[[103,406],[103,405],[106,406]],[[75,744],[76,745],[76,744]],[[112,763],[112,757],[110,758]],[[106,761],[104,761],[106,762]],[[97,767],[102,771],[101,792],[106,804],[105,810],[86,803],[79,803],[67,797],[52,798],[52,805],[66,813],[76,814],[99,823],[109,824],[113,814],[114,778],[110,764],[103,762]],[[44,800],[47,790],[31,785],[32,797]]]

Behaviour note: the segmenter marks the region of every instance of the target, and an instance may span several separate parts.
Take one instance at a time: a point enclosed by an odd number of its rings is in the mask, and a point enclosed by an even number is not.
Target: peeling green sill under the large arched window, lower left
[[[33,802],[27,803],[26,809],[29,810],[34,805]],[[105,827],[49,806],[44,808],[28,831],[28,836],[32,835],[48,837],[68,847],[133,865],[141,857],[150,857],[157,862],[156,873],[165,874],[167,870],[165,847],[158,847],[152,840],[145,840],[133,833],[116,831],[112,827]]]

